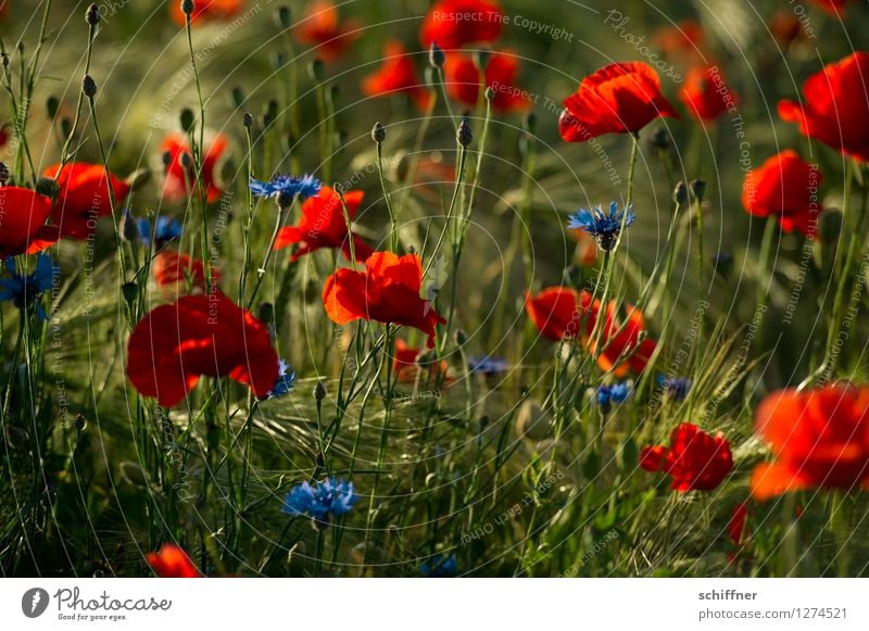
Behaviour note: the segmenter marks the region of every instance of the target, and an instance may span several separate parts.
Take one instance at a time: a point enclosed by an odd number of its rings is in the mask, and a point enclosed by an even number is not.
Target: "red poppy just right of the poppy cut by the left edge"
[[[56,179],[60,187],[51,222],[56,227],[58,238],[85,240],[97,229],[97,219],[112,216],[105,168],[84,162],[71,162],[63,171],[60,167],[55,164],[42,172],[45,177]],[[109,177],[117,206],[129,193],[129,186],[111,173]]]

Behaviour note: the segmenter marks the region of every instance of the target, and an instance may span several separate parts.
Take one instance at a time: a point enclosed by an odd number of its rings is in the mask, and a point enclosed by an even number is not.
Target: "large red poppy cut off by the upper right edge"
[[[869,53],[829,64],[803,84],[805,103],[779,101],[779,116],[804,136],[869,161]]]

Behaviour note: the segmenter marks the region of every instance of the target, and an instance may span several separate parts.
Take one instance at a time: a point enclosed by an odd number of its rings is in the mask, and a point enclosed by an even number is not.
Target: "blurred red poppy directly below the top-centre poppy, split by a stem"
[[[480,97],[480,72],[474,60],[457,52],[446,55],[443,66],[446,90],[450,97],[466,105],[476,105]],[[495,97],[492,106],[499,112],[527,110],[531,106],[527,91],[514,87],[519,73],[519,60],[508,51],[492,53],[486,66],[486,87],[491,87]]]

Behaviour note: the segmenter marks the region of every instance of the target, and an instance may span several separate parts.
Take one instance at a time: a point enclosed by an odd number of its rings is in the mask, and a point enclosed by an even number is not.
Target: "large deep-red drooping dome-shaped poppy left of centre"
[[[223,293],[185,295],[146,315],[127,349],[127,376],[171,407],[201,376],[229,377],[265,396],[278,377],[268,329]]]

